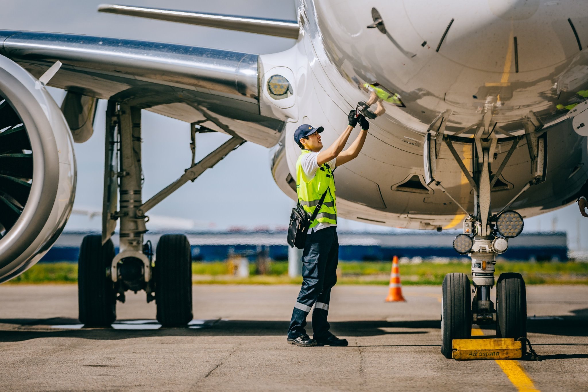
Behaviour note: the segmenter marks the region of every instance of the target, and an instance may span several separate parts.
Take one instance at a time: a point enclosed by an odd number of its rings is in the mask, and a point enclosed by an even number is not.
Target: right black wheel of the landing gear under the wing
[[[192,255],[183,234],[161,236],[155,251],[155,303],[163,327],[183,327],[192,320]]]

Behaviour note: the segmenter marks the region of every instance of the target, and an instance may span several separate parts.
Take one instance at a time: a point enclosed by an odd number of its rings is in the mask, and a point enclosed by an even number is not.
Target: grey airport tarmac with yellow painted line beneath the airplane
[[[349,347],[286,344],[296,286],[194,286],[195,321],[159,329],[145,294],[113,329],[81,329],[75,285],[0,286],[0,390],[580,391],[588,386],[588,286],[527,287],[543,361],[440,353],[439,286],[336,286],[331,330]],[[309,317],[310,320],[310,317]],[[310,331],[310,329],[309,329]],[[493,331],[484,331],[492,334]]]

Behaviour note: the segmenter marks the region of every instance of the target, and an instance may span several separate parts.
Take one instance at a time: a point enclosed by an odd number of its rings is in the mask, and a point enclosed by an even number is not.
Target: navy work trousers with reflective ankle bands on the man
[[[327,339],[331,335],[327,315],[330,290],[337,283],[338,262],[339,240],[336,226],[325,227],[306,236],[302,253],[302,288],[294,305],[288,337],[295,339],[306,334],[306,316],[313,305],[314,339]]]

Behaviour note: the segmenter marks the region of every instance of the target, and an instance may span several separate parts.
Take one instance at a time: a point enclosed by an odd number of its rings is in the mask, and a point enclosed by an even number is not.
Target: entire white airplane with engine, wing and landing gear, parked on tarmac
[[[296,199],[293,131],[333,142],[356,109],[370,121],[360,156],[336,173],[340,217],[407,229],[462,227],[472,259],[442,287],[442,353],[472,324],[526,336],[520,274],[496,256],[523,218],[576,201],[588,179],[588,8],[550,0],[298,0],[295,21],[101,5],[118,15],[280,36],[265,55],[172,43],[0,31],[0,282],[38,262],[72,210],[73,142],[106,110],[102,235],[79,256],[79,319],[108,326],[125,292],[155,300],[163,326],[192,319],[189,244],[143,242],[146,215],[245,142],[270,148],[272,175]],[[350,15],[354,15],[350,18]],[[108,15],[105,15],[108,17]],[[61,108],[45,86],[65,89]],[[191,124],[192,164],[142,199],[141,110]],[[195,135],[230,139],[195,162]],[[358,132],[358,131],[355,131]],[[111,236],[119,221],[120,252]],[[496,286],[495,301],[490,288]]]

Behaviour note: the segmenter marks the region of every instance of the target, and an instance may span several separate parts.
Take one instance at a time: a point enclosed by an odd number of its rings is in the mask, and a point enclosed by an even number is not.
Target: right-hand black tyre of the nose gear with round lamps
[[[500,274],[496,283],[496,316],[499,337],[527,337],[527,293],[521,274]],[[526,352],[523,341],[523,353]]]

